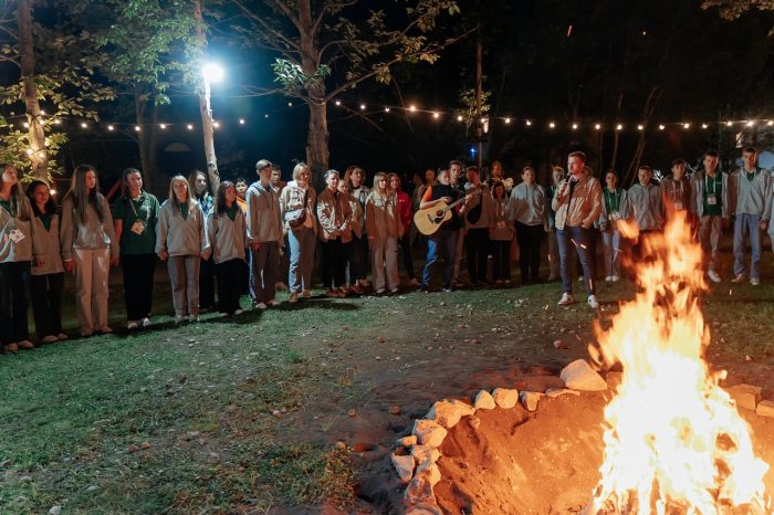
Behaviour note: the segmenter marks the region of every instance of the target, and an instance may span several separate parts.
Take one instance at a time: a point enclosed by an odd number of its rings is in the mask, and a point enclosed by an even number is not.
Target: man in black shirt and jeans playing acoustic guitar
[[[449,170],[441,170],[438,175],[438,183],[432,185],[425,191],[422,201],[419,204],[421,210],[433,208],[436,206],[448,206],[460,199],[459,191],[451,187]],[[422,281],[419,285],[420,292],[427,292],[430,286],[430,276],[432,265],[438,261],[439,250],[444,253],[443,262],[443,291],[451,292],[453,290],[451,280],[454,267],[454,251],[457,248],[457,237],[460,229],[460,216],[464,213],[467,202],[460,202],[456,208],[451,209],[451,218],[443,221],[440,228],[428,238],[427,259],[425,260],[425,270],[422,271]]]

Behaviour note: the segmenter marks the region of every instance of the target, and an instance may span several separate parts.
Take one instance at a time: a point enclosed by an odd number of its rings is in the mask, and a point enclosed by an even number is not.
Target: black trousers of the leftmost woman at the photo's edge
[[[30,262],[0,263],[0,344],[28,339],[27,292],[30,287]]]

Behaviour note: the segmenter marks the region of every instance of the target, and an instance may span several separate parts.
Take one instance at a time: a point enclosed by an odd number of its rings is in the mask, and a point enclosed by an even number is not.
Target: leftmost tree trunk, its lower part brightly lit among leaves
[[[45,149],[45,132],[41,123],[38,86],[35,85],[35,53],[32,42],[32,8],[30,7],[30,0],[19,1],[18,19],[21,77],[24,86],[27,123],[30,126],[28,135],[30,139],[30,150],[32,150],[32,154],[30,154],[32,176],[48,183],[49,153]]]

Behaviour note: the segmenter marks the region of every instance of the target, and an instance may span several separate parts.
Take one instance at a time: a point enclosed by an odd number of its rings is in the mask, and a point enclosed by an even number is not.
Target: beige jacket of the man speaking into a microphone
[[[593,227],[602,213],[602,186],[599,181],[592,176],[582,175],[575,185],[572,198],[569,197],[569,188],[564,195],[559,195],[562,185],[567,180],[563,180],[556,188],[554,199],[551,202],[552,209],[556,212],[556,229]]]

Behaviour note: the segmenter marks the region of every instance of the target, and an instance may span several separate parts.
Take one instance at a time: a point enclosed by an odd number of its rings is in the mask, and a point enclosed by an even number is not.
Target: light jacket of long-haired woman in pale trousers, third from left
[[[73,198],[70,195],[64,198],[60,232],[63,261],[73,259],[73,249],[97,250],[109,248],[111,256],[118,256],[118,242],[113,228],[111,207],[102,195],[97,195],[97,202],[102,206],[102,222],[91,203],[86,208],[86,220],[82,222],[75,213]]]

